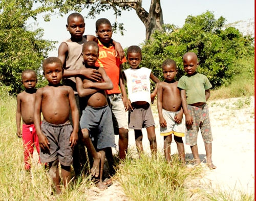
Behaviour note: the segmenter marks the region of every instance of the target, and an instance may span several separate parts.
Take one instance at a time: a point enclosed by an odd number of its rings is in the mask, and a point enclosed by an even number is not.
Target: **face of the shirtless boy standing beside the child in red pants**
[[[58,85],[62,79],[63,69],[59,63],[48,63],[44,68],[44,75],[51,85]]]

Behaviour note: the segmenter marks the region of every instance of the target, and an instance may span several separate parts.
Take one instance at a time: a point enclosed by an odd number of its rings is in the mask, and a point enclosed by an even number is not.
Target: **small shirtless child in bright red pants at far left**
[[[37,82],[36,73],[27,69],[22,72],[22,83],[25,91],[17,95],[16,125],[17,136],[23,139],[25,170],[30,170],[30,158],[33,157],[34,146],[39,155],[39,144],[34,125],[34,103],[35,85]],[[22,118],[22,131],[20,130],[20,120]],[[40,162],[40,157],[39,157]]]

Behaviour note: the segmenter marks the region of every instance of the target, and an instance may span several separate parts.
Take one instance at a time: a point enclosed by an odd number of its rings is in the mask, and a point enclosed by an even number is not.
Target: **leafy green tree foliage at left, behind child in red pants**
[[[42,39],[43,30],[28,30],[26,21],[46,11],[33,8],[34,1],[3,0],[0,2],[0,80],[11,94],[22,90],[20,75],[25,69],[33,69],[41,80],[41,61],[53,49],[53,43]]]

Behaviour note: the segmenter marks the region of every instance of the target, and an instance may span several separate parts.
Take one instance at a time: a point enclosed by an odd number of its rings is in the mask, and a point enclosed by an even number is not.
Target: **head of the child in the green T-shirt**
[[[193,75],[197,71],[197,55],[194,52],[187,52],[183,58],[184,70],[188,75]]]

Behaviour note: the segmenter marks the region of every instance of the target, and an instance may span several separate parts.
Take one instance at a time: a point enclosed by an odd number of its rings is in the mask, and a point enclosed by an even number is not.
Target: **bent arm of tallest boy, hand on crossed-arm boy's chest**
[[[58,49],[58,58],[61,60],[63,68],[66,67],[66,58],[68,57],[68,54],[69,48],[65,42],[62,42]],[[78,70],[64,70],[63,72],[63,78],[75,77],[78,75],[83,75],[84,77],[94,81],[98,81],[101,78],[99,71],[95,69],[81,68]]]

